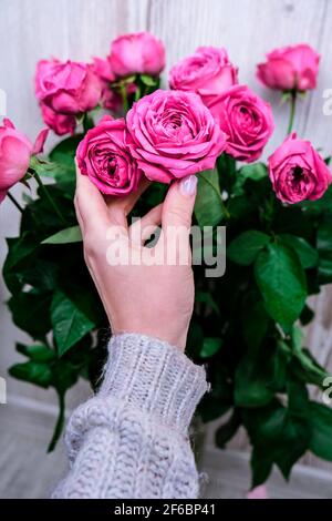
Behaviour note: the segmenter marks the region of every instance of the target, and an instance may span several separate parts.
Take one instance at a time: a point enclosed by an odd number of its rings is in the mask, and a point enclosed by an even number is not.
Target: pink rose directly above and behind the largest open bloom
[[[235,83],[238,83],[237,68],[230,63],[225,49],[215,47],[199,47],[169,72],[172,89],[197,92],[206,104]]]

